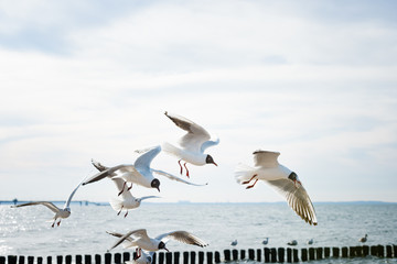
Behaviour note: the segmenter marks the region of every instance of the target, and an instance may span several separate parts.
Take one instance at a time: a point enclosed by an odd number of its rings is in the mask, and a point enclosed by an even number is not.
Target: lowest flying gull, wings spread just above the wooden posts
[[[115,235],[111,232],[108,233]],[[165,244],[171,239],[185,244],[197,245],[201,248],[208,245],[203,240],[186,231],[173,231],[160,234],[155,239],[151,239],[148,237],[146,229],[137,229],[120,237],[119,240],[109,249],[109,251],[126,241],[127,243],[125,243],[125,248],[137,248],[137,255],[135,256],[135,258],[139,258],[141,256],[142,250],[149,252],[165,250],[167,252],[169,252],[169,250],[165,248]]]

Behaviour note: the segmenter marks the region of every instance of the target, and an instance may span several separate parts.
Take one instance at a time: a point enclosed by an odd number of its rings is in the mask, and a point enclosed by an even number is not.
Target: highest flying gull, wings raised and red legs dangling
[[[168,142],[163,143],[163,148],[165,152],[180,158],[178,164],[181,167],[181,174],[183,173],[181,161],[185,162],[183,166],[186,169],[187,177],[190,176],[186,163],[198,166],[203,166],[205,164],[214,164],[217,166],[217,164],[214,162],[214,158],[211,155],[205,154],[204,151],[210,146],[219,144],[219,139],[216,141],[210,141],[211,136],[208,132],[198,124],[183,117],[168,113],[167,111],[164,114],[171,119],[172,122],[174,122],[180,129],[183,129],[187,132],[179,140],[181,147],[176,147]]]

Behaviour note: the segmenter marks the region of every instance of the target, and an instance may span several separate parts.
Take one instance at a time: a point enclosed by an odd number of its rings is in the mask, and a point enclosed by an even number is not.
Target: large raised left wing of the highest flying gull
[[[178,114],[165,112],[165,116],[172,120],[179,128],[187,133],[180,139],[180,145],[192,152],[201,152],[204,142],[211,139],[210,133],[201,125]],[[206,146],[207,147],[207,146]],[[206,148],[204,147],[204,150]]]

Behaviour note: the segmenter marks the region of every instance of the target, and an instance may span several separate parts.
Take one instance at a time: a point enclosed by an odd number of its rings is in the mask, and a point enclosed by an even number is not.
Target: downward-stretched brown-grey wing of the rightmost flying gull
[[[305,222],[310,224],[318,224],[315,211],[310,197],[302,185],[293,183],[288,178],[266,180],[278,193],[286,197],[288,205],[300,216]]]

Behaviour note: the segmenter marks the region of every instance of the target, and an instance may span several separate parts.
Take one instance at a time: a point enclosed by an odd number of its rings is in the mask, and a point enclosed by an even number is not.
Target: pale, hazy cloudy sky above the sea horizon
[[[280,152],[313,202],[397,202],[396,1],[0,0],[0,200],[65,200],[136,150],[184,134],[221,143],[218,166],[160,153],[157,202],[285,199],[236,183],[253,152]],[[133,186],[132,195],[158,195]],[[74,199],[116,197],[106,179]]]

